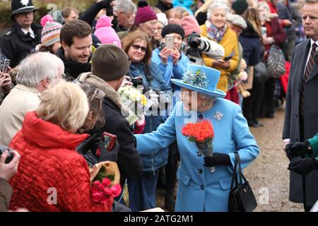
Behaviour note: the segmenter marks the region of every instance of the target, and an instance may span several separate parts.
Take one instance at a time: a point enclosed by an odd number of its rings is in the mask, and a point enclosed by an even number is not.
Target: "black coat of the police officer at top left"
[[[17,66],[22,59],[35,49],[37,44],[41,43],[42,27],[33,23],[31,28],[35,38],[25,35],[18,23],[14,23],[11,30],[0,39],[0,49],[2,53],[10,59],[11,68]]]

